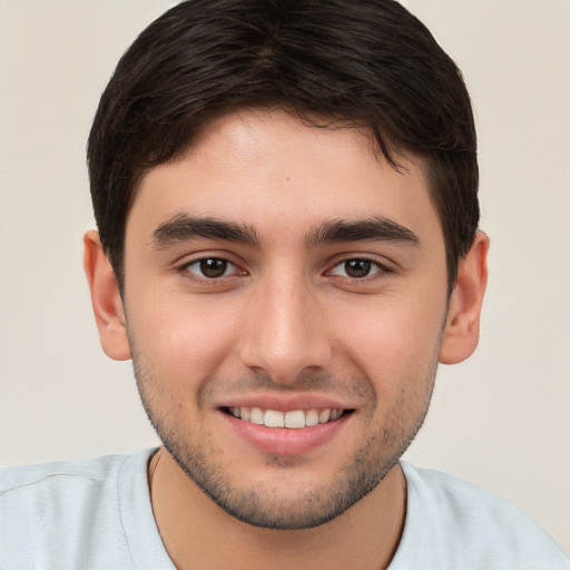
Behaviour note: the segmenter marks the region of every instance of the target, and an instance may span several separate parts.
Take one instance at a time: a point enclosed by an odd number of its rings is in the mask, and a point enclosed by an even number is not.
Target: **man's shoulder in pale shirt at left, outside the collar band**
[[[130,568],[121,485],[145,488],[150,453],[1,469],[0,567]]]

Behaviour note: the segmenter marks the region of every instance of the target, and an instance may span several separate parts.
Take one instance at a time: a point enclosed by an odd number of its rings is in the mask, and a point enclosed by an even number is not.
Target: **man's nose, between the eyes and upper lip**
[[[242,362],[286,384],[308,370],[326,370],[333,354],[331,331],[316,297],[302,277],[259,283],[244,317]]]

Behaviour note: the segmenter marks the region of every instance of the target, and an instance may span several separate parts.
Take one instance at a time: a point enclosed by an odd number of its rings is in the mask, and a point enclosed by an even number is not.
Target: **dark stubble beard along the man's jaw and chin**
[[[208,448],[207,433],[199,436],[200,441],[193,441],[191,436],[177,430],[181,424],[175,415],[169,414],[169,411],[175,410],[175,403],[170,402],[169,407],[163,405],[160,399],[164,397],[164,391],[160,383],[141,363],[135,350],[132,362],[148,419],[165,449],[186,475],[232,517],[255,527],[274,530],[302,530],[324,524],[379,485],[423,424],[438,365],[434,358],[424,377],[410,379],[406,386],[413,387],[402,389],[392,409],[386,411],[382,428],[368,435],[358,450],[336,470],[332,480],[318,487],[302,489],[292,500],[279,498],[273,488],[248,484],[247,481],[233,478],[220,462],[223,451]],[[263,382],[272,381],[264,379]],[[309,383],[311,379],[303,380],[304,385]],[[361,380],[360,385],[374,395],[368,381]],[[268,458],[268,463],[279,464],[284,472],[294,462],[295,458]]]

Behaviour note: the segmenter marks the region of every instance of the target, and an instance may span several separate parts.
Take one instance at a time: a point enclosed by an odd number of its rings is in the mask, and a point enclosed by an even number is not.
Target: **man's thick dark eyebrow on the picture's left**
[[[151,245],[157,249],[163,249],[196,237],[238,242],[254,246],[259,244],[257,233],[246,224],[177,214],[153,232]]]

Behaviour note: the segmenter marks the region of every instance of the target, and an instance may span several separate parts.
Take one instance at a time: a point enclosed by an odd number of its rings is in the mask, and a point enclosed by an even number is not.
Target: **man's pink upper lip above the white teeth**
[[[291,412],[293,410],[353,410],[355,405],[320,394],[248,394],[226,397],[216,407],[261,407]]]

